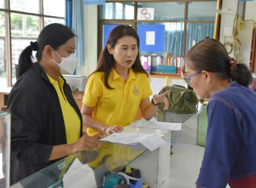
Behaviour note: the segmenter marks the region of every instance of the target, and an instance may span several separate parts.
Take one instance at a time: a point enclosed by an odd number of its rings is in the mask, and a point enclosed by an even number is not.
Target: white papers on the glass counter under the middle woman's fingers
[[[143,134],[143,133],[133,133],[133,132],[119,132],[119,133],[116,132],[100,140],[118,143],[118,144],[131,144],[131,145],[141,143],[150,151],[154,151],[156,150],[156,148],[159,148],[160,146],[166,143],[156,133]]]

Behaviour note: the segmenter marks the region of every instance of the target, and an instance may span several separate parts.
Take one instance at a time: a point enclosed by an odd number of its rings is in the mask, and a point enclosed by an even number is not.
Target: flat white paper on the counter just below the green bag
[[[152,128],[162,130],[181,130],[181,123],[151,122],[147,120],[137,120],[129,124],[132,128]]]

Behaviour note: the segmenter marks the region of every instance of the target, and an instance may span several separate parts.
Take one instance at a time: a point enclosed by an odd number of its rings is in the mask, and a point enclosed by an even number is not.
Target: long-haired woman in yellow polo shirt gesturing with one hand
[[[82,115],[90,136],[102,137],[121,132],[137,120],[140,108],[143,118],[150,120],[170,91],[154,95],[150,103],[148,74],[139,60],[139,36],[131,26],[114,28],[106,42],[96,71],[90,75],[84,93]]]

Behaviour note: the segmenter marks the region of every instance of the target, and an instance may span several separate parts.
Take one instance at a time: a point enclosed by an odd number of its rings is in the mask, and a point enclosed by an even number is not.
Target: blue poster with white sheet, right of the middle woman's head
[[[139,25],[139,51],[164,52],[164,25]]]

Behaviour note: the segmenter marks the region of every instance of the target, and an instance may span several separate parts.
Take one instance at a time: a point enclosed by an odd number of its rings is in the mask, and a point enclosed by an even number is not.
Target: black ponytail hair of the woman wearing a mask
[[[30,42],[30,46],[27,46],[20,54],[18,76],[20,77],[30,66],[32,66],[33,50],[37,51],[36,60],[40,60],[46,45],[50,45],[54,50],[57,50],[59,46],[65,44],[67,40],[73,37],[75,37],[74,32],[61,23],[51,23],[48,26],[45,26],[40,32],[37,42]]]

